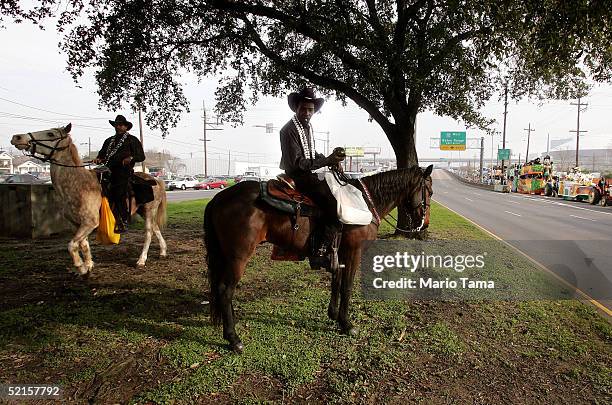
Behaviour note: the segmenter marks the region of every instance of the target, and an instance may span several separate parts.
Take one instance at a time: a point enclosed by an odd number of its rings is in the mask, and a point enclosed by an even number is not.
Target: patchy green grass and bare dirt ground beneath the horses
[[[102,268],[99,279],[84,284],[42,271],[31,251],[1,249],[0,281],[23,296],[0,306],[0,381],[61,381],[81,402],[610,398],[612,328],[580,302],[370,301],[356,288],[351,314],[360,332],[348,338],[326,316],[328,276],[305,263],[273,263],[267,246],[258,248],[236,293],[246,350],[234,355],[206,313],[205,204],[169,204],[166,232],[175,258],[150,259],[144,274],[117,264],[110,248],[94,246]],[[390,231],[381,226],[381,234]],[[429,237],[490,242],[436,203]],[[49,252],[65,263],[65,245],[56,245],[49,242]],[[511,253],[499,254],[528,270]],[[61,268],[54,260],[51,268]],[[18,264],[25,273],[14,269]],[[44,278],[45,289],[28,291]]]

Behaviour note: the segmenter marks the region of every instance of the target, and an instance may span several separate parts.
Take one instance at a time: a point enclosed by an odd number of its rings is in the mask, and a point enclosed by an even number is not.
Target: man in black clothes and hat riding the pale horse
[[[110,171],[109,199],[113,205],[113,213],[116,219],[116,232],[125,233],[130,218],[128,211],[129,180],[134,173],[136,162],[145,160],[142,144],[128,131],[132,129],[132,123],[123,115],[117,115],[115,120],[108,121],[115,127],[115,135],[104,141],[94,163],[103,163]]]

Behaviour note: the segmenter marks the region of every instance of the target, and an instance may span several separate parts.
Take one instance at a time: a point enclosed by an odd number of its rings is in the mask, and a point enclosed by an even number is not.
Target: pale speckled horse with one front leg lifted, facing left
[[[96,173],[84,168],[70,138],[71,129],[72,124],[68,124],[64,128],[18,134],[13,136],[11,144],[51,163],[51,182],[64,203],[64,216],[77,228],[68,243],[68,252],[77,273],[85,276],[94,266],[87,238],[100,222],[102,189]],[[138,175],[152,179],[144,173]],[[132,199],[132,215],[138,212],[145,220],[145,243],[136,263],[138,267],[144,267],[147,261],[152,233],[155,233],[159,241],[160,256],[166,257],[166,241],[160,230],[166,223],[166,191],[163,181],[156,180],[156,183],[153,186],[153,201],[138,207]],[[81,259],[79,249],[84,260]]]

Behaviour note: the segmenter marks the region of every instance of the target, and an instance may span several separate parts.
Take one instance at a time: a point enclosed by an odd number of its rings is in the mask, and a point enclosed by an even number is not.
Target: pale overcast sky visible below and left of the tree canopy
[[[10,137],[15,133],[32,132],[72,122],[72,136],[79,149],[91,138],[92,150],[97,150],[104,139],[113,134],[108,124],[116,114],[124,114],[135,125],[132,134],[138,135],[138,117],[128,109],[103,111],[98,109],[98,99],[91,76],[84,77],[77,87],[65,70],[66,61],[58,49],[60,37],[50,25],[41,31],[30,24],[9,24],[0,30],[0,147],[11,148]],[[201,157],[202,102],[209,114],[214,107],[214,79],[198,83],[192,77],[182,77],[185,92],[191,103],[191,113],[185,114],[179,126],[170,131],[163,140],[159,131],[145,128],[145,149],[168,150],[183,158]],[[581,137],[586,147],[612,147],[612,86],[597,86],[583,102],[589,103],[581,114],[581,130],[588,132]],[[514,156],[525,154],[527,135],[524,128],[529,123],[532,132],[530,152],[546,150],[546,138],[572,137],[569,131],[576,128],[576,106],[569,101],[551,100],[544,105],[528,100],[511,102],[508,108],[507,147]],[[21,105],[20,105],[21,104]],[[44,111],[46,110],[46,111]],[[503,103],[493,101],[483,111],[487,117],[498,120],[501,132]],[[281,127],[291,117],[286,98],[262,98],[245,115],[244,126],[232,128],[225,125],[223,131],[209,132],[209,153],[244,157],[275,162],[280,159],[278,129],[266,134],[264,128],[254,125],[273,123]],[[368,114],[354,104],[342,107],[340,103],[327,100],[321,113],[313,121],[315,131],[330,132],[331,148],[335,146],[381,147],[385,157],[393,156],[384,133],[375,122],[368,122]],[[431,138],[439,138],[440,131],[462,131],[465,125],[431,113],[419,114],[417,119],[417,149],[419,156],[450,157],[451,152],[431,149]],[[324,138],[325,134],[317,134]],[[480,138],[483,133],[467,129],[468,138]],[[496,137],[493,146],[501,144]],[[485,156],[491,154],[491,137],[485,135]],[[317,147],[323,151],[323,144]],[[455,152],[456,154],[457,152]],[[476,150],[462,152],[470,157]],[[456,155],[455,155],[456,156]]]

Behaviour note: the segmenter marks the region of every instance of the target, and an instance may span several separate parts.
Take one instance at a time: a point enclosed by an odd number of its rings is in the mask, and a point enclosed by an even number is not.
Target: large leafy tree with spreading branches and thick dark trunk
[[[58,7],[58,4],[62,4]],[[93,69],[101,103],[148,109],[167,130],[188,109],[180,75],[221,75],[217,112],[312,83],[351,99],[387,135],[399,167],[418,163],[417,113],[487,127],[499,95],[568,98],[610,80],[609,0],[42,0],[4,18],[61,10],[68,69]],[[365,118],[365,117],[364,117]]]

